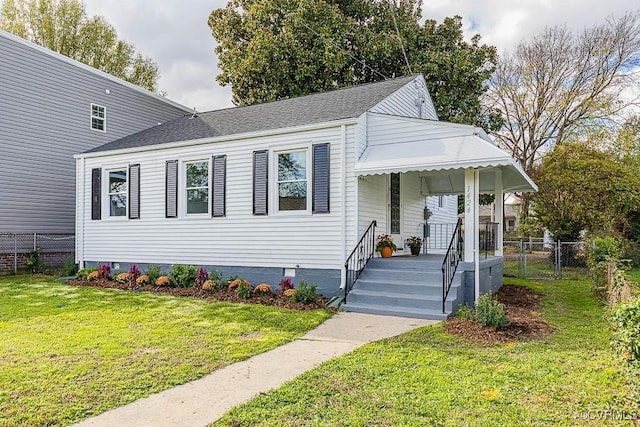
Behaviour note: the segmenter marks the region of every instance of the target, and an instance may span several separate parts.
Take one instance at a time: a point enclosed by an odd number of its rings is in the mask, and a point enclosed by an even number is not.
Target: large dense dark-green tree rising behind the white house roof
[[[495,125],[478,101],[495,48],[465,41],[459,16],[421,25],[420,4],[232,0],[209,17],[217,79],[246,105],[423,73],[440,118]]]

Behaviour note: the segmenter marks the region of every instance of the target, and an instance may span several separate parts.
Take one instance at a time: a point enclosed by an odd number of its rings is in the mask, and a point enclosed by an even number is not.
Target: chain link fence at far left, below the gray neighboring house
[[[75,245],[72,233],[0,233],[0,273],[26,269],[33,250],[44,268],[60,268],[74,257]]]

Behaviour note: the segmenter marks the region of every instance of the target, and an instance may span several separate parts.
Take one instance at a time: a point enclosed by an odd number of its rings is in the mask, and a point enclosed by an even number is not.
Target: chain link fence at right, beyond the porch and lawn
[[[587,273],[584,242],[553,242],[540,238],[504,241],[505,276],[579,279]]]

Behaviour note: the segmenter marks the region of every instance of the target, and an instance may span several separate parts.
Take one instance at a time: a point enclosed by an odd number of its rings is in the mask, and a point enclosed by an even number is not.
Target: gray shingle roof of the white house
[[[399,77],[264,104],[198,113],[195,117],[188,115],[111,141],[87,153],[354,118],[415,78],[416,76]]]

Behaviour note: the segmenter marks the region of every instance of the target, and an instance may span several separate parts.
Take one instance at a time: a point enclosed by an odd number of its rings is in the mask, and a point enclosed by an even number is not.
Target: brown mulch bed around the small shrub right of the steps
[[[542,292],[525,286],[504,285],[495,298],[502,304],[509,318],[509,325],[497,330],[474,320],[453,317],[445,322],[444,329],[454,335],[481,343],[533,341],[552,334],[554,329],[542,320],[535,310]]]

